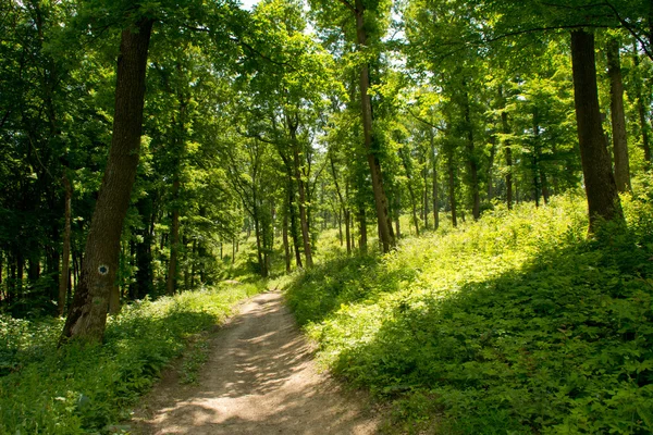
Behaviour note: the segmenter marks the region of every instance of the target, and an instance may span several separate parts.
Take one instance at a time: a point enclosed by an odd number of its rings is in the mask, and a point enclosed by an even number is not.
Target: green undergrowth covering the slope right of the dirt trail
[[[341,257],[286,286],[320,360],[403,433],[653,433],[653,208],[587,237],[580,197]]]

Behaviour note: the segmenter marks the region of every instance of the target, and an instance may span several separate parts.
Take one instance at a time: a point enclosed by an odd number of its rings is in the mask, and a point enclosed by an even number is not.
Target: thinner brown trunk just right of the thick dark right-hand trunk
[[[613,127],[613,152],[615,158],[615,183],[617,190],[630,190],[630,162],[628,138],[626,136],[626,114],[624,112],[624,83],[619,41],[607,42],[607,74],[609,75],[609,110]]]

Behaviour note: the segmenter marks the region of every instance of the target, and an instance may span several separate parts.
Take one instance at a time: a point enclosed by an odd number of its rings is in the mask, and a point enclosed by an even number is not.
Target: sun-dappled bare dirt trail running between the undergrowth
[[[141,434],[374,434],[365,399],[316,370],[278,291],[245,303],[211,338],[199,385],[170,373],[136,411]]]

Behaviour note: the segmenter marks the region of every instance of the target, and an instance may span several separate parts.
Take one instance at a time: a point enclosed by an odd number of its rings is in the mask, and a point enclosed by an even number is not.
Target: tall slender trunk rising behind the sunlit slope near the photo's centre
[[[365,5],[362,0],[356,0],[356,36],[358,50],[364,51],[367,46],[367,30],[365,27]],[[391,217],[387,212],[387,197],[383,189],[383,176],[381,172],[381,162],[377,156],[375,144],[373,138],[373,119],[372,119],[372,101],[369,96],[370,87],[370,71],[369,65],[365,63],[360,70],[360,101],[362,115],[362,136],[367,160],[370,166],[372,176],[372,190],[374,192],[374,206],[377,210],[377,221],[379,224],[379,234],[381,236],[381,245],[383,252],[389,252],[395,246],[394,232],[392,229]]]

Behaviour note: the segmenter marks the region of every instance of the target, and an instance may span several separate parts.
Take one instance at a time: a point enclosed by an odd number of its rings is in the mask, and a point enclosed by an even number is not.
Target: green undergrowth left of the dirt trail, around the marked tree
[[[58,349],[62,320],[0,316],[0,434],[109,432],[130,418],[130,407],[189,337],[264,289],[263,282],[241,284],[130,304],[109,320],[101,346]],[[182,368],[186,382],[196,378],[205,341],[189,345]]]

